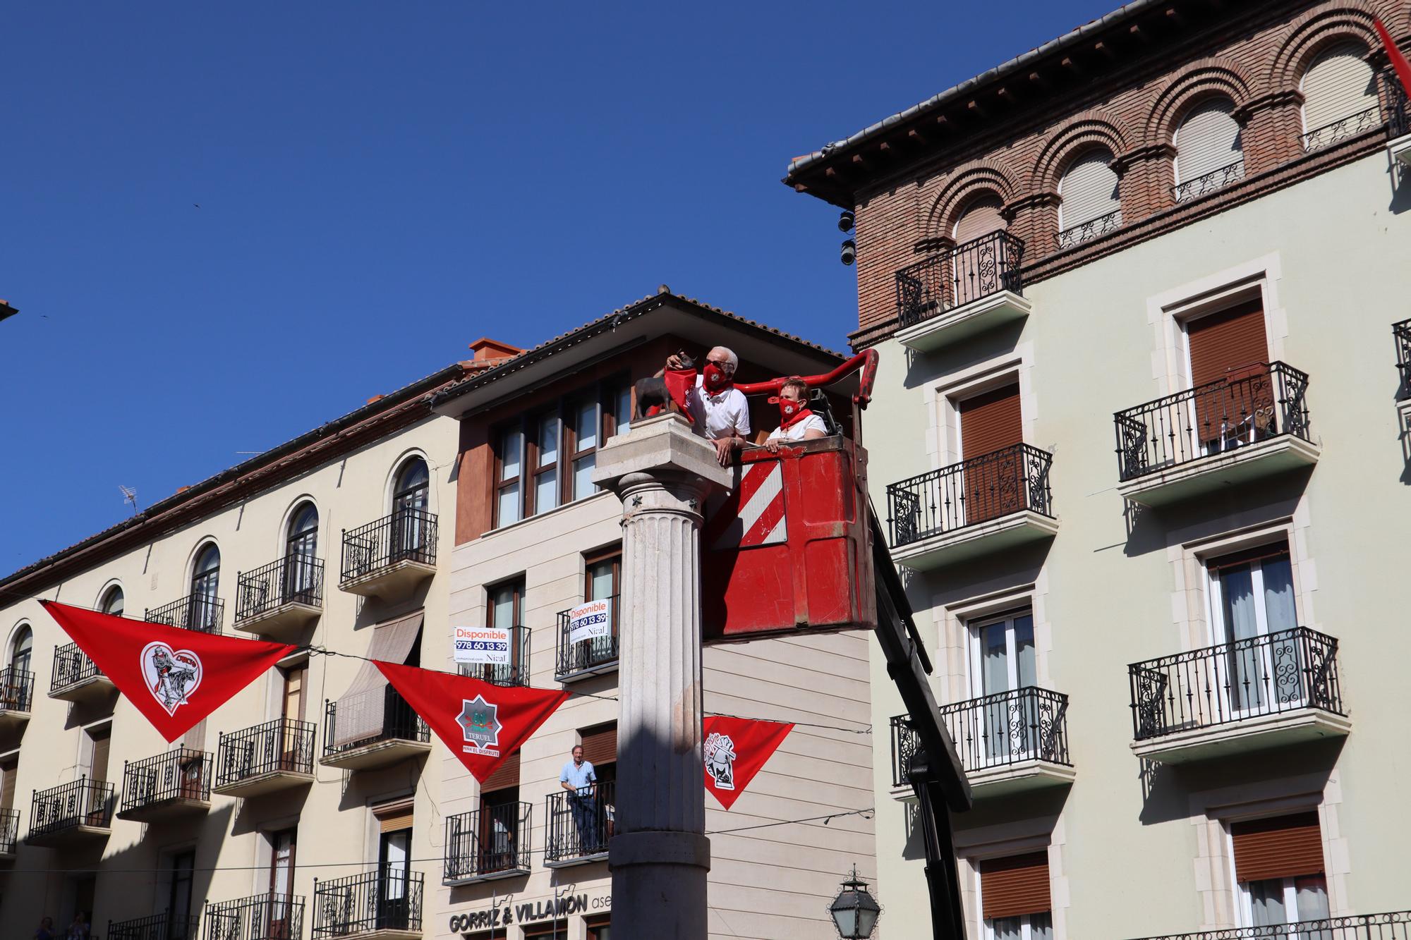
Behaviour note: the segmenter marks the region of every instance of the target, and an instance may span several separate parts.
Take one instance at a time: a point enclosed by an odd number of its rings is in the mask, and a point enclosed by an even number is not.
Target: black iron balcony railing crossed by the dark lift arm
[[[1068,761],[1068,696],[1037,686],[998,692],[941,706],[941,721],[967,772],[1047,761]],[[904,714],[892,718],[892,785],[906,773],[920,740]]]

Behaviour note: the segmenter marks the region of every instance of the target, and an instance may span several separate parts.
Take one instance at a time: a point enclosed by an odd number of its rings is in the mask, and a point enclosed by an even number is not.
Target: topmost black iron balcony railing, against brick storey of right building
[[[1024,243],[995,231],[902,268],[896,272],[902,327],[1000,291],[1023,294],[1023,260]]]

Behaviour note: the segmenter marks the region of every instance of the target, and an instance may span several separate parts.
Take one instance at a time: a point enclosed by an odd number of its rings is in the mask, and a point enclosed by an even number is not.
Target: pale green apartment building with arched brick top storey
[[[1401,3],[1137,0],[789,167],[855,215],[975,939],[1407,936],[1411,126],[1374,17],[1411,45]],[[930,936],[872,680],[879,936]]]

